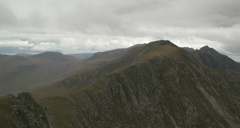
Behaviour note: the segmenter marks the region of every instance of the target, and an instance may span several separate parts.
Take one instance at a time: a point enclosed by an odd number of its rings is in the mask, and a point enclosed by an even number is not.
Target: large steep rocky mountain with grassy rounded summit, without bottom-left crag
[[[63,112],[55,116],[56,120],[74,120],[78,127],[239,126],[237,99],[232,99],[226,89],[232,85],[221,81],[213,70],[202,66],[185,50],[149,43],[130,50],[105,67],[111,68],[119,62],[123,66],[113,67],[99,78],[92,77],[97,80],[62,100],[51,97],[41,103],[49,106],[56,99],[66,102],[63,106],[58,102],[58,110],[55,107],[50,110],[57,114],[61,107],[71,108],[71,119]],[[102,70],[106,71],[104,67]]]

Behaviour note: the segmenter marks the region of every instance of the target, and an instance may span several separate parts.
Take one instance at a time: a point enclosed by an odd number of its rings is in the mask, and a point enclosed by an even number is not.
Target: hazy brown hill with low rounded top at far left
[[[78,63],[80,60],[60,53],[1,55],[0,95],[26,91],[72,70]]]

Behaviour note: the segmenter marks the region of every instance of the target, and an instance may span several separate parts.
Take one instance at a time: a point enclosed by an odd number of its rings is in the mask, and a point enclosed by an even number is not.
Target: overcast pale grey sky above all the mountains
[[[0,0],[0,51],[84,53],[167,39],[240,61],[239,0]]]

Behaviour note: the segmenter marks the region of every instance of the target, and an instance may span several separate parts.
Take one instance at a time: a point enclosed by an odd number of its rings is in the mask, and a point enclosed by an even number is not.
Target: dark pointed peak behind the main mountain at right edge
[[[240,71],[239,63],[235,62],[226,55],[218,53],[216,50],[209,48],[208,46],[204,46],[199,50],[193,51],[192,54],[199,62],[206,66],[210,66],[215,69]]]

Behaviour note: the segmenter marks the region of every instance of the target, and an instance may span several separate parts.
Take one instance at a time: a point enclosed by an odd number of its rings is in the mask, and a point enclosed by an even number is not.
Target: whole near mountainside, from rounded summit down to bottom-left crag
[[[35,109],[2,97],[0,119],[4,127],[239,128],[239,90],[239,72],[208,68],[161,40],[33,91]]]

